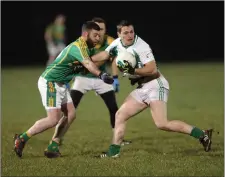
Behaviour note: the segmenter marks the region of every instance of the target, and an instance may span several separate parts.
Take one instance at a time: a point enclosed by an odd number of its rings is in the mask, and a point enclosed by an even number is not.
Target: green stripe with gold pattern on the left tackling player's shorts
[[[47,107],[56,107],[56,89],[54,82],[47,82]]]

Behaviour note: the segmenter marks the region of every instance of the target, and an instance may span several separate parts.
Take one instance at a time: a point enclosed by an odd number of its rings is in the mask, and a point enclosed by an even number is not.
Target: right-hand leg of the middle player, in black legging
[[[116,95],[115,91],[112,87],[112,85],[104,83],[100,79],[94,79],[96,82],[96,87],[95,91],[101,96],[103,99],[105,105],[107,106],[109,110],[109,115],[110,115],[110,125],[112,130],[114,131],[115,127],[115,116],[116,112],[118,111],[118,105],[116,102]],[[130,144],[131,141],[123,139],[122,146]]]

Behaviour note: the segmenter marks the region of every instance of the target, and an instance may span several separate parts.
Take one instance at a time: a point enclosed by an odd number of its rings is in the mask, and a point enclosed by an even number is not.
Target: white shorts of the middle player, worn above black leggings
[[[100,95],[112,91],[113,86],[111,84],[106,84],[99,78],[76,76],[70,89],[78,90],[83,94],[90,90],[94,90]]]

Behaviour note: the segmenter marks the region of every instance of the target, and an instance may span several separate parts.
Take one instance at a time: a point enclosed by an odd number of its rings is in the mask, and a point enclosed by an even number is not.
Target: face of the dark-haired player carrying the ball
[[[123,45],[128,46],[134,42],[134,27],[130,26],[123,26],[121,28],[121,32],[118,33],[118,36],[121,38]]]

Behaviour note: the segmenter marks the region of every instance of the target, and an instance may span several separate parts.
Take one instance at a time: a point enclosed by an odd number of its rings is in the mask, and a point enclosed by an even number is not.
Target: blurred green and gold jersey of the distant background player
[[[52,35],[52,40],[55,44],[63,43],[65,38],[65,25],[54,25],[50,24],[46,31],[49,31]]]

